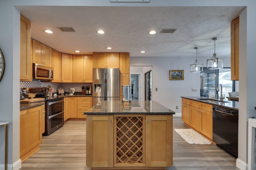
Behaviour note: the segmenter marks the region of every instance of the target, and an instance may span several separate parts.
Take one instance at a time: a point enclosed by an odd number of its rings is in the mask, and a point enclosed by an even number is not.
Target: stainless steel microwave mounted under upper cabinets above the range
[[[53,80],[53,67],[33,63],[34,80]]]

